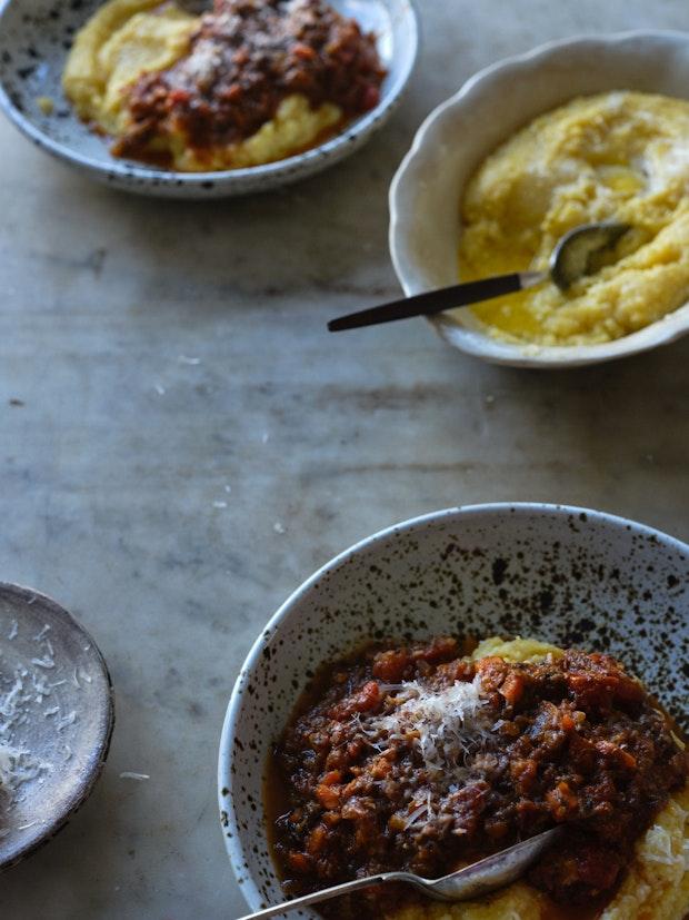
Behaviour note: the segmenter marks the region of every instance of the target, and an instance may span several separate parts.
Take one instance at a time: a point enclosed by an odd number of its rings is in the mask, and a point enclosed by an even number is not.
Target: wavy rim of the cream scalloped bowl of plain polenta
[[[652,40],[669,46],[689,48],[689,33],[678,29],[631,29],[609,34],[581,33],[568,38],[543,42],[523,53],[502,58],[481,68],[469,77],[460,88],[440,102],[418,128],[411,147],[401,160],[390,184],[388,204],[390,221],[388,245],[392,265],[405,294],[420,294],[427,289],[423,273],[418,261],[409,258],[408,233],[406,225],[410,220],[409,204],[406,197],[417,182],[415,169],[422,160],[425,151],[432,141],[432,132],[452,112],[465,106],[477,89],[491,82],[501,82],[511,75],[527,70],[538,70],[543,63],[557,58],[562,51],[595,46],[597,49],[619,48],[639,40]],[[576,93],[573,93],[575,96]],[[572,96],[572,98],[573,98]],[[495,364],[513,367],[562,368],[580,367],[618,359],[641,352],[669,345],[689,333],[689,300],[670,314],[650,323],[642,329],[630,333],[608,343],[593,345],[541,346],[536,344],[516,344],[495,339],[480,328],[469,328],[437,315],[428,317],[435,330],[442,339],[467,354],[483,358]]]

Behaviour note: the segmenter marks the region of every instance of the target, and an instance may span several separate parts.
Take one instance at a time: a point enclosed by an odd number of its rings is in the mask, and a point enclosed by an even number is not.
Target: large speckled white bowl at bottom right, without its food
[[[222,731],[222,832],[250,908],[282,897],[266,840],[262,769],[320,664],[372,637],[520,633],[619,655],[686,724],[688,576],[689,546],[670,536],[540,504],[437,512],[323,566],[256,642]]]

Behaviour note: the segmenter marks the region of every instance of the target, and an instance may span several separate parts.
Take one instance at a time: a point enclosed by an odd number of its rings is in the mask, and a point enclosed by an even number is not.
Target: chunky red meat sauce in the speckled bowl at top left
[[[323,0],[214,0],[189,53],[134,83],[131,128],[113,151],[141,158],[159,136],[197,151],[227,147],[294,93],[352,118],[378,105],[383,77],[375,37]]]

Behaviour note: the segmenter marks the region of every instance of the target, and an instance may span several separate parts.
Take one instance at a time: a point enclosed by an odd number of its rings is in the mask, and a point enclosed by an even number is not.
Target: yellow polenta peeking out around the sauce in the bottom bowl
[[[555,645],[531,639],[503,641],[491,636],[472,657],[498,655],[507,661],[535,662]],[[612,902],[597,920],[682,920],[689,913],[689,789],[675,793],[637,844],[636,857]],[[576,913],[568,911],[568,920]],[[560,920],[552,901],[525,882],[516,882],[488,898],[458,904],[432,901],[386,914],[385,920]],[[590,912],[582,912],[587,920]]]

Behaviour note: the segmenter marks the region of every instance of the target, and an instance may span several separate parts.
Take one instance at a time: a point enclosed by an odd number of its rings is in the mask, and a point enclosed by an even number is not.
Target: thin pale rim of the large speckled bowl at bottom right
[[[282,602],[282,604],[280,604],[276,613],[273,613],[270,620],[261,629],[259,636],[251,645],[251,649],[249,650],[240,667],[239,674],[237,675],[222,723],[222,732],[220,735],[218,751],[217,780],[218,808],[221,818],[220,829],[234,878],[237,879],[244,900],[251,910],[259,910],[261,904],[263,904],[263,899],[254,879],[248,874],[243,868],[246,847],[243,842],[243,833],[234,811],[232,794],[233,784],[236,782],[233,775],[236,749],[232,743],[232,739],[234,736],[236,725],[239,721],[240,709],[244,695],[244,685],[248,682],[249,675],[256,667],[257,662],[261,659],[263,649],[273,640],[282,621],[286,620],[292,610],[301,603],[314,585],[326,575],[340,568],[342,565],[346,565],[352,556],[358,555],[362,550],[367,550],[377,543],[381,543],[399,534],[410,533],[416,530],[422,531],[423,527],[446,521],[447,518],[457,517],[459,520],[468,520],[471,517],[501,517],[506,514],[539,514],[548,517],[562,517],[570,515],[578,516],[580,514],[586,514],[590,520],[612,525],[617,530],[627,530],[631,533],[650,537],[689,561],[689,544],[679,540],[679,537],[667,534],[663,531],[659,531],[648,524],[642,524],[610,512],[580,507],[577,505],[556,504],[551,502],[488,502],[441,508],[439,511],[428,512],[426,514],[391,524],[380,531],[376,531],[373,534],[370,534],[362,540],[357,541],[351,546],[338,553],[331,560],[321,565],[312,575],[306,578],[306,581],[303,581],[289,595],[289,597]],[[262,771],[263,764],[260,764],[260,769]]]

